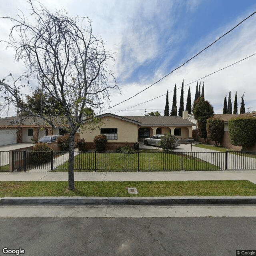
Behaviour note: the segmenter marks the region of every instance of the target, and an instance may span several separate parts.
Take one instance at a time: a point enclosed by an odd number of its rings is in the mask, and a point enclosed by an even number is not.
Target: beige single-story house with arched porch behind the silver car
[[[143,141],[156,134],[174,134],[181,140],[192,138],[192,126],[195,124],[180,116],[118,116],[110,113],[97,116],[102,125],[96,130],[80,132],[80,138],[87,142],[88,149],[94,149],[96,135],[107,136],[107,150],[115,150],[128,143]],[[85,120],[86,122],[86,120]]]

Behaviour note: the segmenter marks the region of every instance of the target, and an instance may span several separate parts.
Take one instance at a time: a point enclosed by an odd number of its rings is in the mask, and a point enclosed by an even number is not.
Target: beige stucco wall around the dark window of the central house
[[[108,118],[108,120],[107,120]],[[117,140],[108,140],[108,142],[137,142],[138,140],[138,125],[114,118],[105,116],[101,118],[103,124],[100,128],[117,128]],[[80,130],[80,138],[84,138],[86,142],[93,142],[94,137],[100,134],[100,128],[96,130]]]

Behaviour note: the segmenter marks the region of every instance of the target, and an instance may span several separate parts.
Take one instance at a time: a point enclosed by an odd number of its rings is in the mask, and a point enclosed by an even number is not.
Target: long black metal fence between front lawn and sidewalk
[[[13,169],[68,170],[68,152],[13,151]],[[74,152],[77,171],[256,169],[256,152]]]

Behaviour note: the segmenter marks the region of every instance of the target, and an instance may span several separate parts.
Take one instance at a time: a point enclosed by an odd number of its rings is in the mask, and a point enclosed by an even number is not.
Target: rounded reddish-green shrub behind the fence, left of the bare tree
[[[46,143],[38,142],[31,150],[30,162],[32,164],[44,164],[52,160],[52,148],[50,148]]]

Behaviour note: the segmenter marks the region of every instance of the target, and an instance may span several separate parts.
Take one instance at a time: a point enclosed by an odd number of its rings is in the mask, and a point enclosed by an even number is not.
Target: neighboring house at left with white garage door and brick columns
[[[41,118],[7,117],[0,119],[0,146],[39,140],[45,135],[58,135],[62,132],[47,125]]]

